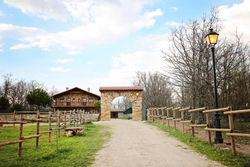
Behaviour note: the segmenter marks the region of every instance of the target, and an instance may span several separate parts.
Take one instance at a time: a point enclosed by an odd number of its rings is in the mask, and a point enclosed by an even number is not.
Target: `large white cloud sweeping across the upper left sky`
[[[144,12],[152,0],[5,0],[10,6],[21,9],[23,13],[32,14],[44,19],[73,18],[77,26],[62,32],[39,33],[19,38],[20,43],[11,49],[50,46],[61,46],[68,54],[78,54],[91,44],[102,44],[142,28],[152,27],[155,17],[161,16],[161,9]],[[133,4],[133,5],[131,5]],[[66,16],[65,16],[66,15]]]

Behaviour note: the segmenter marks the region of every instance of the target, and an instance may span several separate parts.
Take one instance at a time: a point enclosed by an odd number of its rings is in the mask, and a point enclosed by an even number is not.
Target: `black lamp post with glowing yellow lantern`
[[[214,56],[214,46],[217,43],[219,34],[214,32],[212,28],[209,29],[210,32],[206,35],[206,41],[207,44],[211,47],[212,50],[212,56],[213,56],[213,69],[214,69],[214,99],[215,99],[215,108],[218,108],[218,93],[217,93],[217,81],[216,81],[216,62],[215,62],[215,56]],[[215,127],[221,128],[220,126],[220,114],[219,112],[215,113]],[[214,138],[215,144],[217,143],[223,143],[223,138],[221,135],[221,132],[216,131],[215,132],[215,138]]]

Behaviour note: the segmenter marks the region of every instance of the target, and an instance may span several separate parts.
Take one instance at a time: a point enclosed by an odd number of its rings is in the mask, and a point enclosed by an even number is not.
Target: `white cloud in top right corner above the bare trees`
[[[223,31],[220,35],[230,37],[229,34],[237,32],[242,34],[244,41],[250,40],[250,0],[229,6],[220,6],[219,17],[222,19]]]

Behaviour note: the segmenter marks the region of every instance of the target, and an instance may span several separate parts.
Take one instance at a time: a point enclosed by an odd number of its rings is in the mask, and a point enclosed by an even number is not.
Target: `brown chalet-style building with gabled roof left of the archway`
[[[52,96],[55,103],[52,106],[56,110],[68,111],[84,109],[85,112],[98,113],[98,110],[94,107],[94,103],[100,100],[100,96],[88,91],[74,87],[72,89],[66,88],[66,91],[57,93]]]

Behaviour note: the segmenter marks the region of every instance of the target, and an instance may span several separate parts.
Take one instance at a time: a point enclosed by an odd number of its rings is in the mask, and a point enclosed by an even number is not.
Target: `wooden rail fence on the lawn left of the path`
[[[69,126],[74,125],[78,126],[79,124],[86,123],[84,118],[84,111],[83,110],[73,110],[73,111],[56,111],[56,112],[39,112],[39,111],[14,111],[14,113],[1,113],[4,114],[13,114],[13,121],[5,121],[0,120],[0,125],[3,124],[12,124],[14,127],[16,124],[19,124],[19,138],[14,141],[6,141],[1,142],[0,147],[9,145],[9,144],[16,144],[18,143],[18,157],[22,155],[22,143],[28,139],[36,138],[36,148],[39,146],[39,137],[43,134],[48,133],[48,142],[51,142],[51,134],[52,131],[55,130],[56,138],[60,137],[60,130],[67,128],[67,123]],[[36,118],[25,118],[27,114],[35,114]],[[17,117],[19,116],[19,117]],[[52,128],[52,121],[56,121],[56,128]],[[23,129],[24,124],[28,122],[36,122],[36,134],[32,136],[23,136]],[[48,123],[48,131],[40,131],[40,122],[47,121]]]

